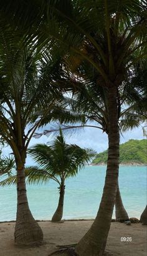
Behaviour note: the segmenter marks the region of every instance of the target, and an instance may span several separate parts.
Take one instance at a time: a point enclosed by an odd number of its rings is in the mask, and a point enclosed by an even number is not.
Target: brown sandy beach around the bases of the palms
[[[39,222],[44,232],[45,244],[39,247],[18,247],[14,245],[14,222],[0,224],[1,256],[47,256],[57,250],[57,245],[76,244],[92,225],[92,220],[65,221],[63,223]],[[131,242],[121,242],[121,237],[131,237]],[[146,256],[146,225],[126,225],[111,222],[107,240],[108,255]],[[65,254],[62,254],[65,255]],[[88,256],[88,255],[85,255]]]

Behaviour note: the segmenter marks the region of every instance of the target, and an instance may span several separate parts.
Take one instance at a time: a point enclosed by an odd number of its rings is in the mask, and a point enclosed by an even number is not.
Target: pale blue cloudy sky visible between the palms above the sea
[[[46,128],[44,128],[46,129]],[[42,130],[44,130],[42,129]],[[120,143],[125,143],[130,139],[145,139],[143,136],[143,129],[142,127],[138,127],[133,130],[129,130],[128,132],[123,133],[123,136],[120,135]],[[50,137],[42,135],[39,139],[35,139],[34,137],[31,139],[29,146],[31,147],[34,144],[38,143],[47,143],[53,140]],[[102,130],[92,127],[85,127],[84,129],[78,130],[78,132],[72,132],[70,130],[70,135],[66,135],[66,142],[68,144],[77,144],[80,147],[90,147],[93,150],[99,152],[103,152],[108,148],[108,138]],[[2,150],[3,155],[8,155],[12,152],[9,147],[5,147]],[[26,165],[34,165],[34,160],[30,157],[26,159]]]

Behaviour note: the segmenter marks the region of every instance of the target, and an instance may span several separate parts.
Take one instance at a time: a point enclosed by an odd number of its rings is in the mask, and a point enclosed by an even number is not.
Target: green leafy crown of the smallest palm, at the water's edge
[[[84,164],[92,160],[96,154],[92,149],[82,149],[78,145],[66,144],[62,130],[59,131],[60,134],[50,142],[50,145],[37,144],[28,150],[38,167],[55,178],[60,175],[65,177],[75,175],[78,169],[84,167]]]

